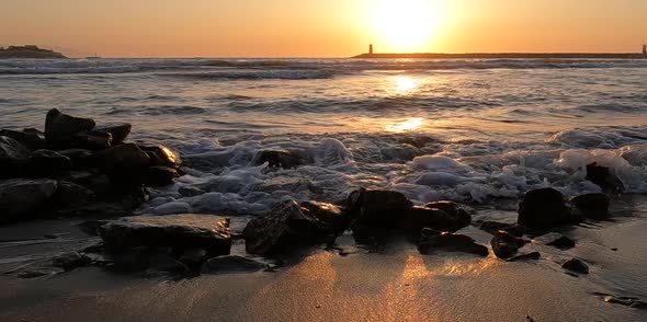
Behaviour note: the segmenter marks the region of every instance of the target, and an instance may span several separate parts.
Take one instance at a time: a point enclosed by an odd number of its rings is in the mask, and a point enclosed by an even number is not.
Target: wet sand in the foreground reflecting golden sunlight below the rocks
[[[536,262],[424,256],[404,241],[374,253],[343,237],[349,255],[315,250],[275,273],[173,280],[86,267],[35,279],[3,275],[0,321],[646,321],[647,310],[595,295],[647,298],[644,205],[629,198],[620,206],[632,217],[561,230],[578,241],[572,250],[530,244],[525,250],[542,253]],[[489,240],[475,228],[463,232]],[[574,256],[590,275],[560,268]]]

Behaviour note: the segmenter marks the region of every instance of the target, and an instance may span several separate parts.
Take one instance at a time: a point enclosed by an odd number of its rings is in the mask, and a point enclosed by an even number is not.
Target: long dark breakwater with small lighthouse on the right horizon
[[[428,59],[642,59],[647,58],[647,45],[643,45],[643,53],[385,53],[373,51],[373,44],[368,45],[368,53],[352,58],[428,58]]]

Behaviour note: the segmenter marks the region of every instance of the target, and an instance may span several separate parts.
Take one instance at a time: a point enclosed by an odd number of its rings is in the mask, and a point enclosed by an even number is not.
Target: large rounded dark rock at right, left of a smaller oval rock
[[[547,229],[577,222],[567,207],[564,195],[554,188],[527,192],[519,204],[519,225],[534,229]]]

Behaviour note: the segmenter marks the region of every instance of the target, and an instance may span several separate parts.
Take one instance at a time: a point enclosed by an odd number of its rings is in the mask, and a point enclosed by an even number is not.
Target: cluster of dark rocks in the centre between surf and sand
[[[311,242],[333,242],[349,228],[359,242],[387,231],[400,231],[419,242],[422,253],[444,250],[487,255],[487,248],[453,233],[470,222],[470,209],[455,203],[413,206],[401,193],[362,188],[349,195],[345,207],[317,202],[280,203],[251,220],[242,237],[249,253],[268,255]]]

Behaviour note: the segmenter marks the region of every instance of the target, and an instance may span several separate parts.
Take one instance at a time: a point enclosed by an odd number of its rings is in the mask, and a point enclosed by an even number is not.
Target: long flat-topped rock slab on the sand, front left
[[[126,217],[110,221],[99,232],[112,252],[135,246],[200,248],[214,256],[227,255],[231,249],[229,219],[211,215]]]

